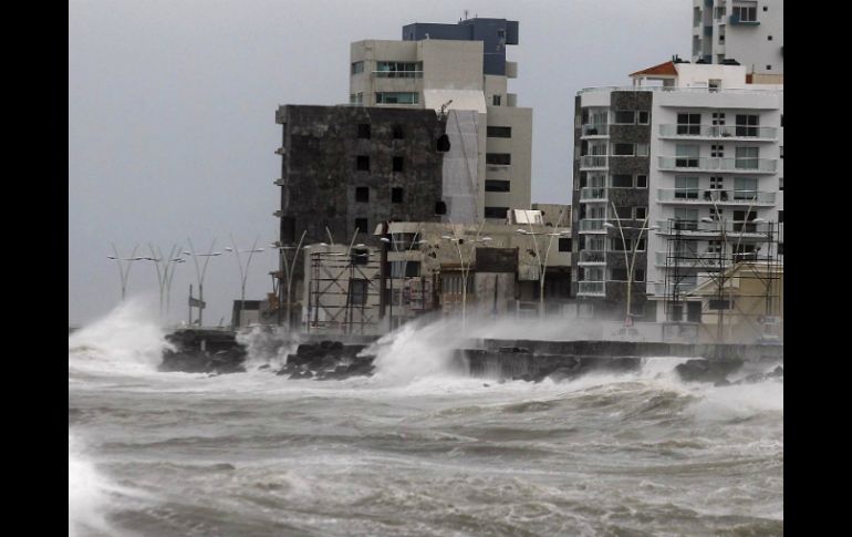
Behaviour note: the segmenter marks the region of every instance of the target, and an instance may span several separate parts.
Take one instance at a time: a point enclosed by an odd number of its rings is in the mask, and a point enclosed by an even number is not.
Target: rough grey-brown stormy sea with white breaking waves
[[[343,381],[162,373],[165,331],[120,307],[69,337],[69,535],[783,534],[782,379],[474,379],[449,332]]]

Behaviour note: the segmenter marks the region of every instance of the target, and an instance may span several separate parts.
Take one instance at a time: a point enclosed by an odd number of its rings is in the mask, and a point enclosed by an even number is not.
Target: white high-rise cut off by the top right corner
[[[783,0],[693,0],[693,61],[746,66],[783,82]]]

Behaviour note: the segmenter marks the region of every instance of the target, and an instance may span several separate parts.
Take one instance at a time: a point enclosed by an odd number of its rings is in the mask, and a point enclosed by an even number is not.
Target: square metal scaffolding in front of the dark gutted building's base
[[[380,320],[380,267],[375,252],[310,254],[308,332],[363,334]]]

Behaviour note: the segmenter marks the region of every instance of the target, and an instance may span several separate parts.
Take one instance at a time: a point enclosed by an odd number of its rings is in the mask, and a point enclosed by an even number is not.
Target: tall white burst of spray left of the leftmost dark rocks
[[[152,372],[172,348],[156,313],[132,298],[69,335],[69,371]]]

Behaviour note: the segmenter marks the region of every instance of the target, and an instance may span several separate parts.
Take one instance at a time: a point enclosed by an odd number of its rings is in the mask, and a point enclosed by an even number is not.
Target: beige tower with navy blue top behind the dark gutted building
[[[518,68],[506,61],[506,45],[517,43],[516,21],[469,19],[414,23],[402,41],[351,45],[351,104],[446,114],[446,219],[499,220],[530,206],[532,109],[508,92]]]

